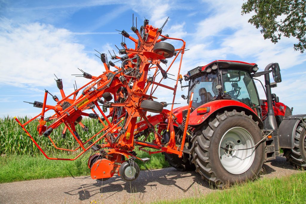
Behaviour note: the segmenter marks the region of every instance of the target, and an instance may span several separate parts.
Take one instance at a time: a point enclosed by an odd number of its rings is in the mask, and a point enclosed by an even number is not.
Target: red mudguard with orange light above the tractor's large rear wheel
[[[207,107],[207,113],[197,113],[197,110],[199,108]],[[196,108],[189,117],[188,125],[198,125],[203,123],[211,114],[215,113],[218,110],[237,110],[237,111],[245,111],[247,114],[252,115],[252,118],[254,121],[258,121],[259,127],[263,127],[263,123],[261,119],[258,117],[257,113],[254,112],[253,109],[251,109],[246,104],[234,101],[234,100],[216,100],[211,101],[208,103],[203,104],[202,106],[199,106]]]

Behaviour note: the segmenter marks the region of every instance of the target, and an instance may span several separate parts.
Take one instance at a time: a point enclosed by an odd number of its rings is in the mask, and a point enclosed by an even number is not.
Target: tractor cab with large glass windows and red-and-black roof
[[[231,99],[246,104],[257,113],[259,97],[251,76],[257,70],[254,63],[219,60],[192,69],[184,76],[189,81],[188,95],[194,93],[192,108],[213,100]]]

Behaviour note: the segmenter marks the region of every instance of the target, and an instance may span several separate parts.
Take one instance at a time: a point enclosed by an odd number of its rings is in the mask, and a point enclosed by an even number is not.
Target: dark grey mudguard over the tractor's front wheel
[[[297,126],[301,123],[301,118],[305,118],[306,114],[302,115],[291,115],[283,119],[278,127],[278,138],[280,148],[294,147],[294,135]]]

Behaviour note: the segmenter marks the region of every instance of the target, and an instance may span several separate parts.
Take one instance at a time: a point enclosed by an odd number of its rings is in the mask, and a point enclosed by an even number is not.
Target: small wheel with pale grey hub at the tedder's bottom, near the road
[[[125,181],[133,181],[139,176],[139,166],[134,161],[125,161],[119,168],[119,174]]]

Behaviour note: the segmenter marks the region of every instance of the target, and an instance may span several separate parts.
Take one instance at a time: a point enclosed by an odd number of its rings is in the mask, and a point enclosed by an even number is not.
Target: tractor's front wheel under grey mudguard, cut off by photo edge
[[[294,135],[293,149],[283,149],[284,156],[291,165],[306,170],[306,131],[300,124]]]

